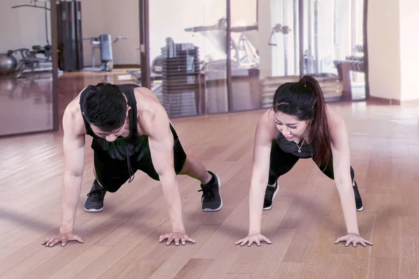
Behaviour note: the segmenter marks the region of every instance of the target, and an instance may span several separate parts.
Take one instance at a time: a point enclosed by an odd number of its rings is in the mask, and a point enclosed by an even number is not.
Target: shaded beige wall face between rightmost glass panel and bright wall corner
[[[399,16],[399,0],[368,0],[367,44],[371,96],[400,100]]]

